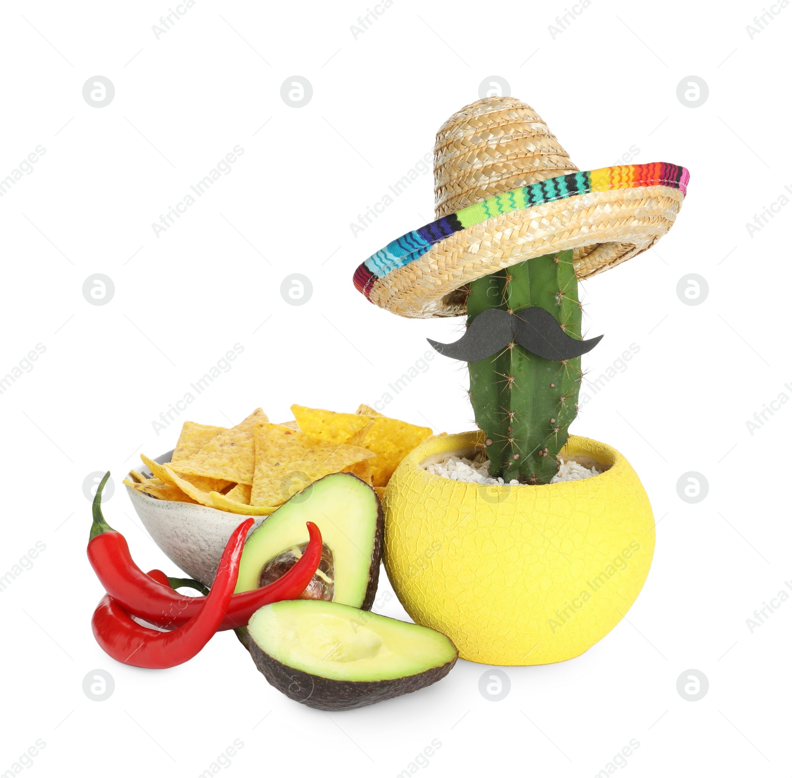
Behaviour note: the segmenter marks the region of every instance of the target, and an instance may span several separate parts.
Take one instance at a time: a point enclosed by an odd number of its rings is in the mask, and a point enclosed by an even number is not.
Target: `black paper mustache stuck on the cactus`
[[[591,351],[603,336],[575,340],[555,321],[552,313],[537,306],[519,313],[489,308],[470,322],[465,334],[455,343],[429,341],[435,351],[463,362],[478,362],[503,351],[512,340],[543,359],[573,359]]]

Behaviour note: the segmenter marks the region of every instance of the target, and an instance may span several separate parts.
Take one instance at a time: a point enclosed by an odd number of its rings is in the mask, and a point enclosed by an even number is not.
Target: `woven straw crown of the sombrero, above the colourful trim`
[[[530,105],[484,97],[437,131],[435,214],[442,218],[483,199],[576,173],[577,166]]]

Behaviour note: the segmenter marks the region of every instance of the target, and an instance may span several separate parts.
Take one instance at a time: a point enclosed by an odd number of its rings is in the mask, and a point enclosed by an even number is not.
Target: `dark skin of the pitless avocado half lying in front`
[[[257,668],[270,685],[291,700],[320,711],[350,711],[352,708],[363,708],[364,705],[417,692],[418,689],[424,689],[425,686],[431,686],[446,677],[457,660],[454,657],[451,662],[432,667],[423,673],[388,681],[333,681],[278,662],[276,658],[261,651],[255,640],[249,639],[248,646],[253,662],[256,662]]]

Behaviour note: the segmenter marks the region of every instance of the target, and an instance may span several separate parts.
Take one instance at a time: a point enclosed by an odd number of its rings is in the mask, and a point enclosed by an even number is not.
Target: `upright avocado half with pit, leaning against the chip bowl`
[[[348,472],[315,480],[265,518],[245,544],[235,591],[284,575],[308,545],[306,522],[322,533],[322,562],[303,598],[370,609],[383,555],[383,509],[374,489]]]

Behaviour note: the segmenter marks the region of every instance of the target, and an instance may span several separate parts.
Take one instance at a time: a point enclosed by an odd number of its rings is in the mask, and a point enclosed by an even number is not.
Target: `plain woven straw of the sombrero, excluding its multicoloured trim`
[[[486,97],[455,113],[437,133],[436,216],[576,171],[530,106],[513,97]],[[679,189],[654,185],[588,192],[501,214],[388,273],[370,299],[404,317],[462,316],[470,281],[565,249],[573,249],[578,278],[588,278],[649,249],[671,228],[682,201]]]

